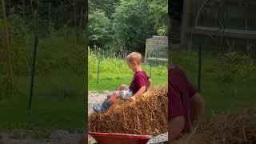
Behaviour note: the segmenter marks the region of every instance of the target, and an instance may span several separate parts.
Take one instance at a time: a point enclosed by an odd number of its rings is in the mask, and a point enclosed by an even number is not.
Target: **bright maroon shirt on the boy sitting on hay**
[[[136,71],[132,82],[130,82],[130,91],[136,94],[142,86],[146,86],[146,82],[148,80],[149,77],[146,75],[146,72],[144,70]]]

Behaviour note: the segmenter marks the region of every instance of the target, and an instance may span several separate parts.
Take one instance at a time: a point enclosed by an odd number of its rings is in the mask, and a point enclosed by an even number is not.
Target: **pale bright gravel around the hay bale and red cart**
[[[94,103],[102,103],[103,100],[106,98],[106,94],[109,91],[105,91],[103,94],[98,94],[95,93],[94,91],[90,91],[89,92],[89,96],[88,96],[88,115],[90,114],[90,112],[92,112],[92,106]],[[89,144],[92,144],[95,142],[94,138],[92,138],[90,135],[88,135],[88,141]],[[153,137],[150,139],[149,142],[147,142],[147,144],[150,143],[156,143],[156,142],[164,142],[164,141],[168,141],[168,132],[166,132],[165,134],[160,134],[156,137]]]

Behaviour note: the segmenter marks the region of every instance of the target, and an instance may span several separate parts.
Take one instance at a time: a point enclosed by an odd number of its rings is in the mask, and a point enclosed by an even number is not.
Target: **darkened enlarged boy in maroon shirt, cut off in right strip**
[[[205,102],[178,66],[168,68],[169,141],[190,132],[191,122],[204,118]]]

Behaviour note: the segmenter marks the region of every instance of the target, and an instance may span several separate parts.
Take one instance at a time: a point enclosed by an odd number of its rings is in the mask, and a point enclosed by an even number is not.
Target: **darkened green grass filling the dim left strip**
[[[28,110],[33,42],[13,42],[14,94],[0,93],[0,131],[34,130],[46,137],[50,130],[84,130],[86,127],[86,82],[84,48],[63,36],[40,39],[34,77],[32,110]],[[0,62],[2,66],[6,63]],[[0,70],[6,74],[7,70]],[[6,85],[6,82],[2,82]],[[36,131],[42,133],[36,133]],[[50,133],[49,133],[50,134]]]

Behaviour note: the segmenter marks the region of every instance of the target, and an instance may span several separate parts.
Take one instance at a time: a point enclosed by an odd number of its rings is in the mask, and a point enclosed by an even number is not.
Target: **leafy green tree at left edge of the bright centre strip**
[[[88,22],[89,45],[105,47],[111,42],[110,19],[101,10],[95,10],[89,14]]]

